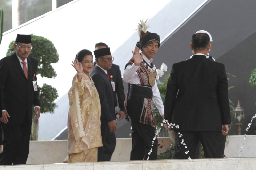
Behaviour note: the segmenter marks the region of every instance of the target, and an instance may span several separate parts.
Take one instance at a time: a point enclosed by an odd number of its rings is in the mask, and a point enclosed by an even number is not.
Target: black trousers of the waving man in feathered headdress
[[[152,141],[155,136],[155,128],[150,125],[145,125],[139,122],[140,115],[144,103],[144,98],[129,96],[127,99],[126,109],[132,120],[132,151],[130,160],[150,160],[157,159],[157,138]],[[151,154],[148,152],[153,149]]]

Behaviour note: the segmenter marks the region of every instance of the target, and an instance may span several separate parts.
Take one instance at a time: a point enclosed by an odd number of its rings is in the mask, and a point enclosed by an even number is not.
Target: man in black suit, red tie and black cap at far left
[[[32,124],[32,106],[40,117],[39,92],[36,85],[37,60],[28,57],[31,35],[17,35],[15,53],[0,60],[1,127],[3,152],[0,165],[26,164]]]

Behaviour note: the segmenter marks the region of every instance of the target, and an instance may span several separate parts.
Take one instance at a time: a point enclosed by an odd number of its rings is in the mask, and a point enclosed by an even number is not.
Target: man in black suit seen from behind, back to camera
[[[165,128],[176,131],[175,159],[195,158],[199,140],[205,158],[220,158],[221,134],[227,135],[231,123],[226,71],[206,58],[211,48],[206,33],[191,41],[193,56],[173,64],[165,94],[164,117],[179,128]]]

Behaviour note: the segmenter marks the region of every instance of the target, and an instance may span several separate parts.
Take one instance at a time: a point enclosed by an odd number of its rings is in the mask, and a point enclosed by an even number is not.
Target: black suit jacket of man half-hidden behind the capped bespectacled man
[[[124,111],[124,100],[125,100],[125,94],[124,94],[124,85],[123,80],[121,77],[121,71],[119,69],[119,66],[116,64],[112,64],[111,69],[107,70],[109,77],[112,75],[113,82],[115,82],[115,91],[114,91],[114,99],[115,99],[115,107],[117,106],[117,99],[119,103],[119,107],[121,111]],[[111,81],[111,78],[110,78]],[[117,96],[117,98],[116,98]]]

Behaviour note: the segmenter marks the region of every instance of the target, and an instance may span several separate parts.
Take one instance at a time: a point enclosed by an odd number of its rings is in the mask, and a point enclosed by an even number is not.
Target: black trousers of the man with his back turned
[[[176,131],[174,158],[188,159],[188,156],[192,159],[198,158],[199,140],[202,143],[205,158],[222,157],[221,132]]]

